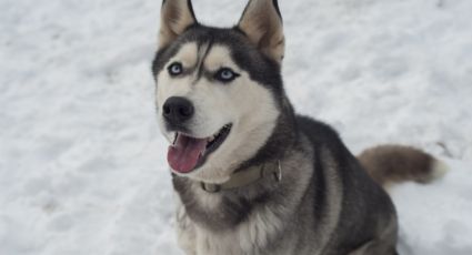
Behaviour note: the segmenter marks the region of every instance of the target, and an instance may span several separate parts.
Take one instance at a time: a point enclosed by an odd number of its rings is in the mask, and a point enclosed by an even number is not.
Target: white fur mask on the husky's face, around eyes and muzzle
[[[209,155],[201,167],[187,175],[197,181],[223,183],[234,167],[254,155],[265,143],[275,126],[279,110],[272,94],[252,81],[249,73],[232,61],[227,47],[213,45],[203,60],[199,52],[202,51],[198,49],[197,43],[185,43],[165,64],[157,76],[157,104],[162,109],[165,100],[171,96],[184,96],[190,100],[195,109],[195,115],[189,126],[190,135],[194,137],[211,136],[223,125],[233,124],[220,147]],[[167,67],[174,61],[181,62],[184,69],[194,69],[193,73],[182,78],[170,76]],[[207,71],[225,67],[240,76],[228,84],[209,81],[205,76],[199,79],[195,67],[200,61],[203,61],[202,68]],[[171,141],[173,133],[165,131],[161,115],[159,119],[161,131]]]

